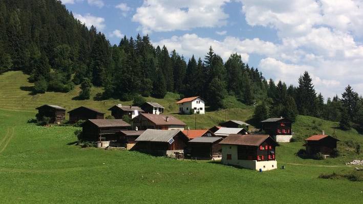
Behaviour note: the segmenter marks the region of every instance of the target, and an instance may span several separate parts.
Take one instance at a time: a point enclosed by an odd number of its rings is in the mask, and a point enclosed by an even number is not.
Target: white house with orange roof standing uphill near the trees
[[[205,114],[204,100],[199,96],[184,98],[176,104],[179,104],[180,114]]]

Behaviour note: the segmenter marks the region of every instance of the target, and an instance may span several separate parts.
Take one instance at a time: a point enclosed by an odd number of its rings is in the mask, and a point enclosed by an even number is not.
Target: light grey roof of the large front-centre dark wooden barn
[[[148,141],[148,142],[167,142],[174,138],[180,130],[145,130],[135,141]]]

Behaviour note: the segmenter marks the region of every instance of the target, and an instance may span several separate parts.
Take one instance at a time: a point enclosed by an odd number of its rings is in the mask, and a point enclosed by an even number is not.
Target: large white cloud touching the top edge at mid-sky
[[[226,2],[229,0],[145,0],[133,21],[141,24],[143,33],[220,27],[228,18],[222,8]]]

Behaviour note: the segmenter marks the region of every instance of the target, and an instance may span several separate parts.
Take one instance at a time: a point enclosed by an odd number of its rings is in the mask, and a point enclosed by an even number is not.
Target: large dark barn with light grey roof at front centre
[[[147,129],[135,141],[133,150],[165,156],[183,153],[189,139],[180,130]]]

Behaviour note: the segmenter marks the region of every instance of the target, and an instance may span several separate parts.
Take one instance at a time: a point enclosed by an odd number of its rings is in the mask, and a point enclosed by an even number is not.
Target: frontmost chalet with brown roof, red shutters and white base
[[[230,134],[222,145],[222,164],[247,169],[276,169],[275,147],[279,146],[267,134]]]

